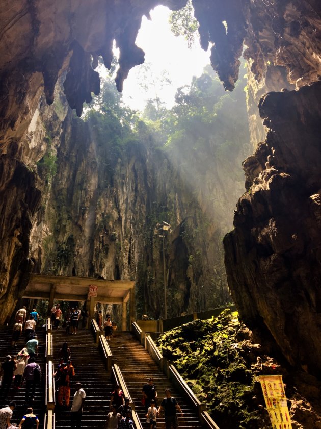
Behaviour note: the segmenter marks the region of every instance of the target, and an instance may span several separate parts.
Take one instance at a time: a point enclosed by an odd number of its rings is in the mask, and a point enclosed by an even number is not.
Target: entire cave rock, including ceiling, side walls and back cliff
[[[186,4],[161,3],[171,10]],[[76,118],[100,92],[95,69],[99,58],[111,68],[114,41],[120,50],[115,78],[120,92],[129,70],[144,62],[136,36],[142,16],[149,17],[159,2],[3,3],[0,323],[11,316],[32,272],[140,278],[136,294],[144,304],[137,315],[150,309],[158,317],[162,310],[153,294],[163,282],[162,243],[153,228],[170,212],[189,213],[184,228],[172,236],[179,258],[171,253],[170,240],[166,244],[166,274],[173,279],[175,264],[183,266],[179,277],[185,289],[179,291],[177,311],[225,305],[230,292],[250,329],[272,342],[288,365],[319,378],[321,4],[192,3],[201,46],[211,46],[211,66],[226,91],[233,91],[240,78],[241,57],[247,67],[253,155],[243,158],[245,178],[229,178],[245,183],[245,190],[242,195],[235,185],[226,216],[223,209],[218,212],[220,230],[208,223],[208,201],[186,196],[186,184],[166,156],[146,167],[152,153],[147,143],[133,141],[121,155]],[[97,123],[92,119],[93,126]],[[144,127],[139,125],[139,133],[146,137]],[[219,168],[206,158],[213,170]],[[162,172],[172,188],[159,180]],[[233,217],[230,232],[227,217]]]

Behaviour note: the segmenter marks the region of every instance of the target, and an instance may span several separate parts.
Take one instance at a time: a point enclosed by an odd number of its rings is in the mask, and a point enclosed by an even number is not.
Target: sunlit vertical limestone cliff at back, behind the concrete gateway
[[[99,115],[86,122],[70,110],[66,115],[59,97],[51,108],[37,110],[25,140],[42,148],[34,164],[43,195],[30,237],[35,272],[135,280],[138,314],[164,315],[163,243],[154,230],[166,219],[172,225],[165,239],[168,314],[227,302],[222,237],[242,176],[231,174],[228,162],[217,162],[204,169],[206,186],[195,175],[192,183],[157,148],[143,122],[139,139],[120,146],[120,124],[112,123],[111,134]],[[51,172],[49,152],[57,164]],[[208,156],[202,154],[203,166]],[[243,156],[241,146],[234,162]],[[195,154],[185,150],[186,162],[188,157],[195,163]]]

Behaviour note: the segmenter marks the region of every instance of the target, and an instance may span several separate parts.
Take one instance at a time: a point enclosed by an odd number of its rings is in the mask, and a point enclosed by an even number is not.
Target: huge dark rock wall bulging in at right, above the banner
[[[272,92],[259,105],[268,134],[244,168],[228,284],[250,327],[272,334],[292,365],[319,375],[321,82]]]

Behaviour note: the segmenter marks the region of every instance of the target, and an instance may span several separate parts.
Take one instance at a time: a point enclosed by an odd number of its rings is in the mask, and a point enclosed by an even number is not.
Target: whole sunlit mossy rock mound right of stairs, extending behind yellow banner
[[[260,343],[237,312],[225,310],[217,318],[186,323],[157,343],[220,428],[271,429],[260,375],[283,376],[293,428],[321,427],[316,378],[286,366],[276,357],[273,343]]]

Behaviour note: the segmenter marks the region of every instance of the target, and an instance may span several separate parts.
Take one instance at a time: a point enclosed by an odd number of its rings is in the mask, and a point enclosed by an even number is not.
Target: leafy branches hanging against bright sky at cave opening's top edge
[[[194,17],[192,0],[188,0],[186,6],[182,9],[172,12],[169,17],[169,23],[174,35],[176,37],[184,36],[188,47],[191,48],[198,29],[198,21]]]

